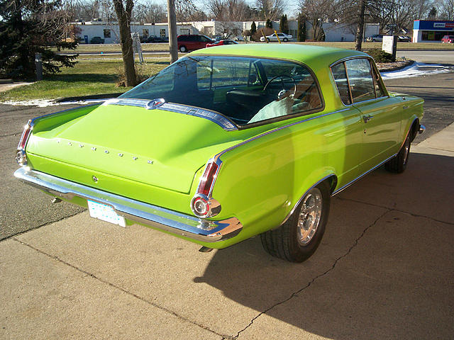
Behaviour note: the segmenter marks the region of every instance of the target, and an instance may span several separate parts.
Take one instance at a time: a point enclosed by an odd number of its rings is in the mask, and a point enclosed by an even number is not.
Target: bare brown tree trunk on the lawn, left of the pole
[[[121,54],[125,69],[125,85],[135,86],[138,84],[134,67],[133,39],[131,38],[131,13],[133,0],[126,0],[126,8],[122,0],[114,0],[118,26],[120,28]]]

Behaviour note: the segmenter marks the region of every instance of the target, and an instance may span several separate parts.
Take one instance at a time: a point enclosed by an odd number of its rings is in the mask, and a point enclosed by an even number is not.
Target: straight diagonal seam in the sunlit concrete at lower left
[[[206,327],[204,326],[203,324],[198,324],[190,319],[187,319],[186,317],[182,317],[181,315],[177,314],[177,312],[174,312],[170,309],[168,309],[167,307],[163,307],[161,305],[157,305],[155,302],[151,302],[151,301],[148,301],[145,299],[145,297],[141,297],[135,293],[132,293],[130,292],[129,290],[126,290],[125,288],[121,288],[120,286],[118,285],[114,285],[114,283],[110,283],[109,281],[107,280],[104,280],[102,278],[99,278],[97,276],[95,276],[93,273],[89,273],[88,271],[84,271],[84,269],[82,268],[79,268],[77,266],[74,266],[73,264],[67,262],[67,261],[64,261],[62,259],[60,259],[60,257],[58,256],[54,256],[52,254],[48,254],[47,252],[43,251],[43,250],[40,250],[38,248],[36,248],[35,246],[32,246],[31,244],[28,244],[26,242],[23,242],[21,241],[20,239],[16,239],[16,237],[12,237],[12,239],[20,244],[22,244],[23,246],[28,246],[30,249],[33,249],[34,251],[37,251],[38,253],[40,254],[43,254],[45,256],[48,256],[50,259],[54,259],[55,261],[58,261],[62,264],[65,264],[66,266],[70,266],[71,268],[75,269],[76,271],[79,271],[80,273],[84,273],[85,275],[91,277],[91,278],[94,278],[95,280],[98,280],[99,282],[101,283],[104,283],[106,285],[109,285],[111,286],[112,288],[115,288],[116,290],[120,290],[121,292],[127,294],[127,295],[131,295],[132,297],[135,297],[136,299],[142,301],[142,302],[145,302],[146,304],[148,305],[151,305],[153,307],[156,307],[158,308],[159,310],[162,310],[164,312],[167,312],[169,314],[172,314],[173,316],[177,317],[177,319],[180,319],[182,321],[185,321],[185,322],[189,322],[190,324],[194,324],[195,326],[197,327],[200,327],[201,329],[205,329],[206,331],[210,331],[211,333],[213,334],[216,334],[217,336],[220,336],[222,339],[228,339],[228,340],[231,340],[233,339],[232,336],[228,336],[228,335],[225,335],[225,334],[219,334],[217,333],[216,331],[214,331],[213,329],[209,329],[209,327]]]

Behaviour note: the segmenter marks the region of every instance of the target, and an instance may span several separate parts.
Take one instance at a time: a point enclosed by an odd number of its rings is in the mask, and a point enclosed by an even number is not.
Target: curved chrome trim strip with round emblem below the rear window
[[[148,99],[114,98],[105,101],[102,105],[138,106],[140,108],[146,108],[147,110],[159,108],[160,110],[183,113],[184,115],[194,115],[199,118],[208,119],[226,131],[238,130],[237,126],[233,124],[231,120],[228,120],[228,118],[216,111],[177,103],[165,103],[165,100],[162,98],[153,99],[151,101]]]

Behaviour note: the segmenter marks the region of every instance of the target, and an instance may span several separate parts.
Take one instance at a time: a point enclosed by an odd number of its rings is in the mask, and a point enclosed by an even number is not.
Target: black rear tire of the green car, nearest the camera
[[[304,213],[304,205],[311,205],[320,199],[321,207],[316,225],[305,229],[305,222],[314,220],[314,215]],[[279,228],[260,234],[262,246],[270,255],[290,262],[303,262],[314,254],[319,246],[328,222],[331,193],[326,181],[312,188],[294,210],[289,219]],[[307,210],[306,210],[307,211]],[[299,218],[301,215],[301,218]],[[304,216],[305,215],[305,216]],[[308,219],[311,217],[311,219]],[[316,215],[316,214],[315,214]],[[305,218],[306,217],[306,218]],[[313,231],[313,234],[310,234]]]

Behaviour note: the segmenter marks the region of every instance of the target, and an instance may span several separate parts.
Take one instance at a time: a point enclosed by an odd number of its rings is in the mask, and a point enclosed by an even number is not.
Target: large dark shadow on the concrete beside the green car
[[[217,251],[194,282],[265,313],[243,330],[255,335],[285,322],[290,337],[302,329],[330,339],[448,339],[453,192],[452,157],[412,153],[404,174],[377,169],[333,198],[308,261],[275,259],[255,237]]]

